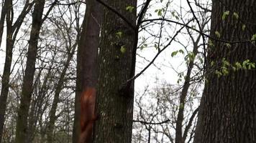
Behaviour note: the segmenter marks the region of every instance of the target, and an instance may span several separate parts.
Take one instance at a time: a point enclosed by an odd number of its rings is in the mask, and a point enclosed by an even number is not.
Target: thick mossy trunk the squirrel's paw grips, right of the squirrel
[[[107,2],[135,25],[136,0]],[[127,6],[133,6],[133,11],[127,11]],[[128,93],[121,93],[119,87],[122,87],[132,73],[134,35],[126,22],[109,9],[104,9],[99,52],[99,88],[96,97],[96,114],[99,114],[99,119],[96,120],[93,142],[132,141],[134,86],[132,84]]]

